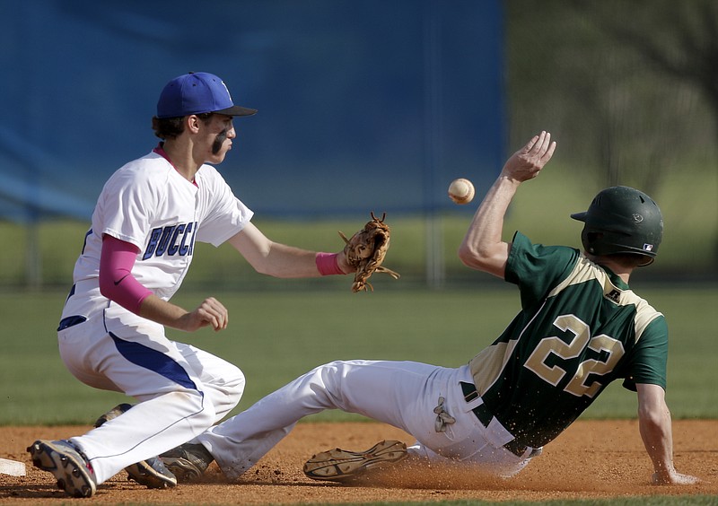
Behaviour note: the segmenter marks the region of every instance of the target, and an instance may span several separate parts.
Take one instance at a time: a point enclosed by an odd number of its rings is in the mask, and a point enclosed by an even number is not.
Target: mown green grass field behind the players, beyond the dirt
[[[285,292],[213,292],[230,310],[221,333],[170,330],[241,367],[247,389],[238,409],[312,367],[336,359],[390,359],[457,366],[489,345],[518,308],[510,287],[481,290],[398,290],[393,280],[377,281],[373,293],[346,286]],[[187,307],[205,292],[184,292]],[[718,290],[650,287],[643,291],[670,324],[668,402],[675,418],[718,417],[715,329],[711,315]],[[124,396],[89,388],[66,371],[57,353],[60,291],[0,293],[4,353],[0,379],[4,407],[0,424],[91,423]],[[615,382],[584,416],[634,417],[635,394]],[[355,419],[327,412],[323,420]]]

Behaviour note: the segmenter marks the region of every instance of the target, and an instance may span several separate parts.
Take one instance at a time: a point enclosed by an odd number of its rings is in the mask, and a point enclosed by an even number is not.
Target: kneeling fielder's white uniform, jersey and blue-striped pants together
[[[204,432],[239,403],[244,390],[238,367],[171,341],[162,325],[100,292],[103,234],[139,248],[132,275],[169,300],[187,275],[197,240],[219,246],[250,222],[252,212],[214,167],[203,165],[195,183],[159,150],[127,163],[102,189],[74,266],[73,289],[57,332],[60,356],[87,385],[142,401],[72,438],[98,483]]]

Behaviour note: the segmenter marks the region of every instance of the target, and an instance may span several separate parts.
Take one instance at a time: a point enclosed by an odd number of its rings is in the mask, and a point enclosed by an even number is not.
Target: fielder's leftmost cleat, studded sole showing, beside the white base
[[[32,465],[57,478],[57,487],[72,497],[92,497],[97,480],[92,465],[70,441],[38,440],[28,447]]]

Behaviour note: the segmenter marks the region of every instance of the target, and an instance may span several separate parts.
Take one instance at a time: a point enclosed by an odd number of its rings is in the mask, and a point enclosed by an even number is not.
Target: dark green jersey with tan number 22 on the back
[[[517,441],[553,440],[614,379],[666,388],[665,318],[609,269],[516,232],[505,280],[519,286],[521,312],[469,365]]]

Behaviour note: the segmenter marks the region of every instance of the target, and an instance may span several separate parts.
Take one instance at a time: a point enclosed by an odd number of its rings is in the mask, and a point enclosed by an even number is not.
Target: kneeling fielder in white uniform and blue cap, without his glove
[[[69,495],[92,496],[123,468],[141,484],[174,486],[176,477],[156,456],[193,440],[240,401],[240,369],[164,333],[165,326],[188,332],[227,327],[227,310],[213,297],[194,310],[170,301],[196,241],[229,242],[259,273],[276,277],[354,270],[343,252],[267,239],[208,165],[221,163],[232,149],[232,119],[256,112],[234,105],[214,74],[180,75],[163,89],[153,118],[162,142],[115,172],[101,191],[74,266],[59,351],[83,383],[124,392],[138,403],[83,435],[32,443],[34,465],[55,475]]]

